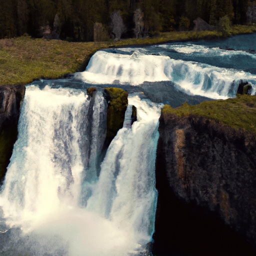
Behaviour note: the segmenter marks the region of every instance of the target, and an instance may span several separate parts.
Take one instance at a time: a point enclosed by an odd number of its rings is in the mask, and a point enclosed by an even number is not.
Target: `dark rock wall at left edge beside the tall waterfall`
[[[4,177],[17,139],[17,123],[24,92],[23,85],[0,86],[0,180]]]

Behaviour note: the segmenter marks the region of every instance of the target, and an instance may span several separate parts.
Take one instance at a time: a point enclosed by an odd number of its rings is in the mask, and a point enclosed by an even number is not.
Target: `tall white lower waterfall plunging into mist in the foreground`
[[[0,194],[9,229],[1,255],[136,255],[150,242],[160,106],[129,98],[137,121],[118,131],[97,177],[106,103],[100,93],[94,102],[80,90],[27,86]]]

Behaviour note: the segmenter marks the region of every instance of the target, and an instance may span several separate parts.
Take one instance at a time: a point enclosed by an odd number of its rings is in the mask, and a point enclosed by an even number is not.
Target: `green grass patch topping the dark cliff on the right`
[[[237,94],[237,98],[204,101],[198,105],[185,102],[177,108],[164,105],[162,113],[175,113],[179,116],[197,114],[256,135],[256,96]]]

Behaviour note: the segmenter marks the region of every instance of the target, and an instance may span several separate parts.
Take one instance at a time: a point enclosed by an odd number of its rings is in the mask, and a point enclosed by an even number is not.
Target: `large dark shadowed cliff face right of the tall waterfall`
[[[161,114],[159,133],[154,250],[166,253],[172,246],[180,251],[178,247],[187,245],[183,253],[254,255],[254,135],[175,113]]]

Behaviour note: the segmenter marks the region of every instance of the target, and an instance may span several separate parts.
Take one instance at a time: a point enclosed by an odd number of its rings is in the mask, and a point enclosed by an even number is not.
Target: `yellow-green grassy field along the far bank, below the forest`
[[[232,34],[256,32],[256,26],[232,27]],[[27,84],[38,78],[60,78],[85,69],[92,54],[103,48],[147,45],[176,40],[216,38],[218,31],[166,32],[154,38],[107,42],[67,42],[21,36],[0,39],[0,84]]]

